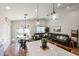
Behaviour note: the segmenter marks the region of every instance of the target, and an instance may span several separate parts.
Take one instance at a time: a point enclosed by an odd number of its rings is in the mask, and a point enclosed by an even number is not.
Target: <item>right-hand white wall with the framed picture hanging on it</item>
[[[79,9],[63,11],[58,15],[57,20],[50,20],[50,31],[53,31],[53,26],[61,26],[61,32],[71,36],[71,29],[79,29]]]

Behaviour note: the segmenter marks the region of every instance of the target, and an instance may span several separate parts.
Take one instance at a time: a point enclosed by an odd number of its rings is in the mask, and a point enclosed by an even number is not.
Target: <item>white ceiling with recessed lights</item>
[[[9,9],[6,9],[9,6]],[[66,10],[66,7],[70,8],[79,7],[78,3],[62,3],[58,6],[55,3],[56,12],[62,12]],[[36,3],[0,3],[0,15],[8,17],[11,20],[23,20],[24,14],[28,14],[27,19],[36,19],[37,17],[37,4]],[[39,13],[38,17],[40,19],[45,19],[53,11],[52,3],[39,3]]]

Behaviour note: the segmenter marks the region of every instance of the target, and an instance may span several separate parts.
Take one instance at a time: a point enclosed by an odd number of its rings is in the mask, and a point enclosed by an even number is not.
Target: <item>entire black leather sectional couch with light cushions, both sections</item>
[[[45,33],[35,33],[33,35],[34,40],[40,40],[44,37]],[[49,40],[54,41],[56,43],[69,46],[70,38],[67,34],[58,34],[58,33],[48,33],[47,37]]]

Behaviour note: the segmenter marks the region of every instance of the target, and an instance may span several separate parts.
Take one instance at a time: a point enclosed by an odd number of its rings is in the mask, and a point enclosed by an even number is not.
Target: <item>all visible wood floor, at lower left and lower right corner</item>
[[[79,56],[79,48],[71,48],[71,52]],[[19,49],[16,43],[13,42],[4,52],[4,56],[26,56],[27,50]]]

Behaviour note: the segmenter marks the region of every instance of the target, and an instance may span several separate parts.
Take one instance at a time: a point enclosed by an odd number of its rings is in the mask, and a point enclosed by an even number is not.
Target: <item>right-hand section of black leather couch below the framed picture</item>
[[[57,34],[57,33],[49,33],[48,39],[65,46],[69,46],[69,42],[71,41],[71,39],[67,34]]]

